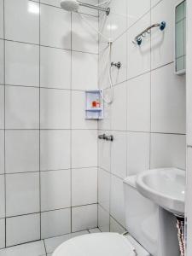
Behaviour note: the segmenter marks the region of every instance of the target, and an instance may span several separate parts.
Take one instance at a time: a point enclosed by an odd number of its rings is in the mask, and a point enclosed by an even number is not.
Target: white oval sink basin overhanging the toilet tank
[[[177,216],[184,215],[185,172],[162,168],[137,175],[137,190],[160,207]]]

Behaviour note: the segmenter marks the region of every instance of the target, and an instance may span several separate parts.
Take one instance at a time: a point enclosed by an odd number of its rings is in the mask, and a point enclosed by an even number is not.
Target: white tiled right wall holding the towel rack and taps
[[[148,168],[185,169],[185,76],[174,73],[174,7],[177,0],[112,0],[111,14],[100,14],[99,26],[113,42],[114,102],[105,108],[99,133],[113,143],[98,146],[98,224],[103,231],[125,229],[123,179]],[[166,21],[143,38],[143,29]],[[108,44],[100,38],[99,85],[110,96],[104,66]]]

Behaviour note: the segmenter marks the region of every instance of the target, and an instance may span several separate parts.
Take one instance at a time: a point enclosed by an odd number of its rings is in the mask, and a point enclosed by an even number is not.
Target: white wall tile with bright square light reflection
[[[39,3],[28,0],[4,1],[5,38],[39,44]]]

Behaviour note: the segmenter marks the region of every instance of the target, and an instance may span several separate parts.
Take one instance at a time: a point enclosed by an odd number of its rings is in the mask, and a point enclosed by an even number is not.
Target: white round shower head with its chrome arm
[[[68,12],[78,12],[80,6],[103,11],[106,13],[106,15],[109,15],[110,13],[110,8],[102,8],[90,3],[83,3],[78,0],[61,0],[61,8],[67,10]]]

